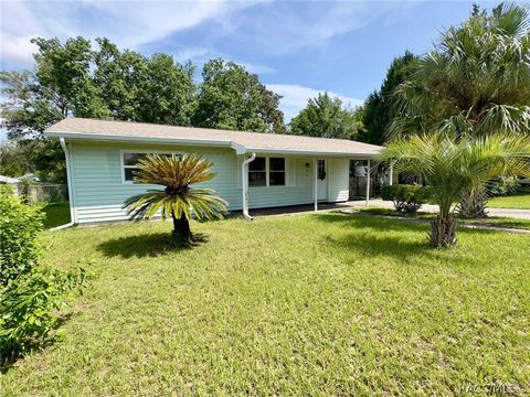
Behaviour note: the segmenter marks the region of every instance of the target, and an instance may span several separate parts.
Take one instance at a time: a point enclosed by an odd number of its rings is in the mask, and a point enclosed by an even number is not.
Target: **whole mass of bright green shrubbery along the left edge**
[[[42,227],[39,207],[0,190],[0,368],[55,337],[57,310],[85,278],[38,266]]]

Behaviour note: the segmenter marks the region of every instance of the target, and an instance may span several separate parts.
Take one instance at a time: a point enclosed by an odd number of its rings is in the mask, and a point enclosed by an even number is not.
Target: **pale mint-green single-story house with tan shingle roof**
[[[124,201],[160,186],[134,183],[147,153],[194,152],[216,175],[204,183],[229,211],[348,201],[350,160],[381,147],[342,139],[239,132],[128,121],[64,119],[45,131],[66,155],[72,223],[127,219]],[[369,186],[369,184],[367,184]],[[367,203],[369,192],[367,189]]]

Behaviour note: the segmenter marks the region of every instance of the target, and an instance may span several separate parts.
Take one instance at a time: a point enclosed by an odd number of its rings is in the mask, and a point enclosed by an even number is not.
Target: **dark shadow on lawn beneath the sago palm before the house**
[[[186,246],[174,246],[169,233],[151,233],[138,236],[113,238],[99,244],[96,249],[106,257],[147,258],[160,255],[193,249],[208,242],[203,234],[193,234],[193,242]]]

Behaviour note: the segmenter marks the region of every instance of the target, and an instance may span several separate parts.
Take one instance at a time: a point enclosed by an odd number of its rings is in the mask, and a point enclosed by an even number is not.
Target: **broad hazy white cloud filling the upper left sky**
[[[206,21],[222,22],[247,3],[214,0],[192,1],[67,1],[1,2],[1,53],[3,61],[31,62],[34,36],[65,39],[107,36],[121,47],[138,49]]]

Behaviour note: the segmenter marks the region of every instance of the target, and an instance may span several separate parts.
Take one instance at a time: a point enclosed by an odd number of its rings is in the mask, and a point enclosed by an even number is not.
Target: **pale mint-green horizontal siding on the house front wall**
[[[144,143],[68,143],[71,151],[72,198],[77,223],[126,219],[124,201],[156,185],[123,182],[121,150],[198,152],[213,163],[216,176],[204,184],[226,200],[230,211],[242,208],[241,157],[232,149]],[[251,187],[250,207],[271,207],[312,203],[312,160],[287,158],[288,185]],[[308,164],[308,167],[307,167]],[[330,159],[329,201],[348,200],[348,160]]]

